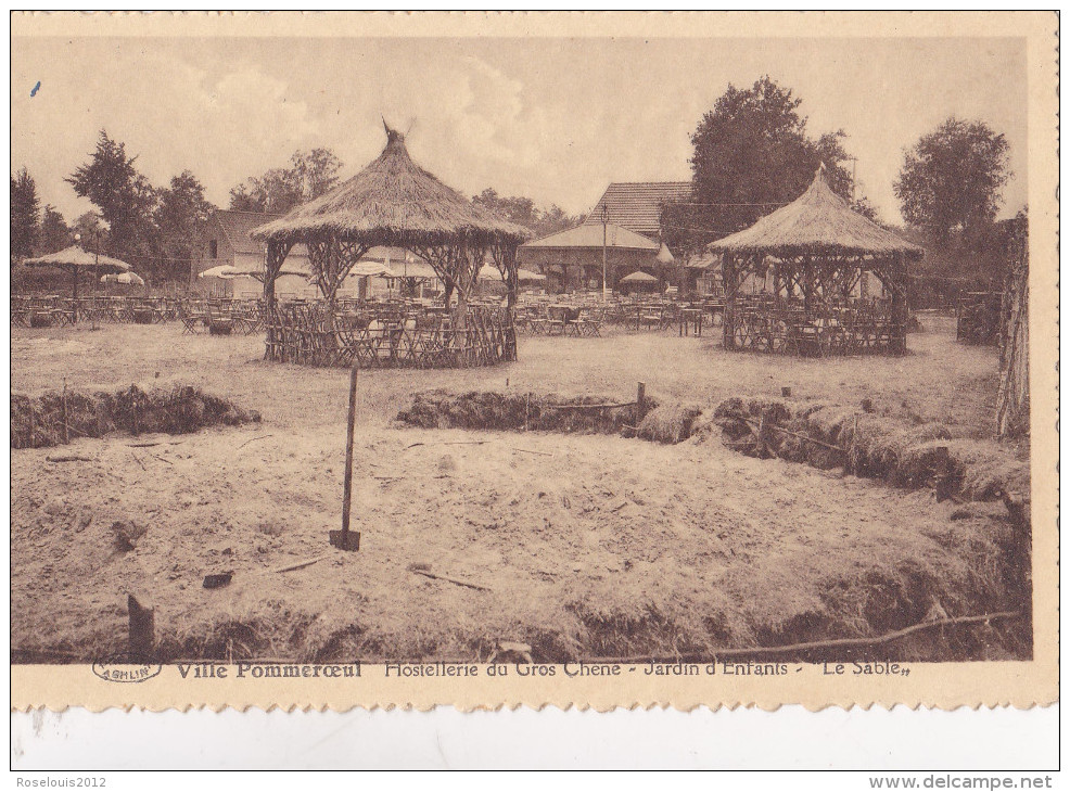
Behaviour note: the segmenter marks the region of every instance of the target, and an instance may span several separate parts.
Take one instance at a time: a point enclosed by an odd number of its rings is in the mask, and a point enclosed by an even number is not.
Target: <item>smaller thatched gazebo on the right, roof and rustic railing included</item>
[[[797,355],[906,352],[908,263],[923,251],[832,192],[818,168],[795,201],[709,245],[721,254],[724,344]],[[881,295],[868,293],[867,273]],[[741,286],[769,280],[772,290]]]

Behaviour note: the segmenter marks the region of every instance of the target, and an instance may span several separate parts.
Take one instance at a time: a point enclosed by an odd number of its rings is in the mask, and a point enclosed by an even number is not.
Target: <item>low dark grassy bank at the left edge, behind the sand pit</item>
[[[11,447],[46,448],[64,443],[66,436],[103,437],[117,430],[130,434],[165,432],[187,434],[205,426],[237,426],[258,422],[255,410],[243,410],[227,399],[190,385],[170,389],[137,385],[115,393],[94,394],[50,391],[37,398],[11,397]]]

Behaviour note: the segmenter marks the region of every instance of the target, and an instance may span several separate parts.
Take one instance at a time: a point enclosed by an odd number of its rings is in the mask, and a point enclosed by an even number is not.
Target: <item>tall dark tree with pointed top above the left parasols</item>
[[[119,258],[145,258],[158,252],[154,212],[158,196],[133,167],[123,143],[100,131],[97,150],[66,179],[75,192],[100,208],[107,223],[107,248]]]

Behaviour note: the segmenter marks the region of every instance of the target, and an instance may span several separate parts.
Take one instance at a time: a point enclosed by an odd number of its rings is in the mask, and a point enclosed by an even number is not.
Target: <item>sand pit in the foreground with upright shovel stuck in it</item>
[[[361,550],[343,553],[327,541],[341,433],[267,432],[84,440],[78,465],[13,455],[15,659],[122,650],[129,591],[156,608],[162,660],[364,661],[486,659],[502,640],[562,661],[874,636],[1016,593],[1002,507],[953,514],[929,493],[601,435],[362,427]],[[222,572],[230,586],[202,587]],[[999,624],[881,650],[1028,651]]]

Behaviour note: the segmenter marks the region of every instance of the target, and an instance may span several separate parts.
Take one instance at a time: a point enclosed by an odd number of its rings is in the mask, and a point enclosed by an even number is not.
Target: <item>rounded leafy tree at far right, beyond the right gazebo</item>
[[[995,220],[1010,145],[983,122],[948,118],[904,154],[894,182],[903,218],[945,245],[968,241]]]

